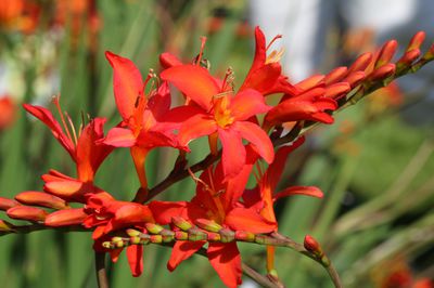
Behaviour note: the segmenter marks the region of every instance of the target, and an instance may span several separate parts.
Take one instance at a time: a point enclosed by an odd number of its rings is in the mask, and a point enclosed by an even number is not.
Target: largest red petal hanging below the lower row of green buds
[[[241,280],[241,257],[237,243],[209,243],[208,260],[227,287],[235,288]]]

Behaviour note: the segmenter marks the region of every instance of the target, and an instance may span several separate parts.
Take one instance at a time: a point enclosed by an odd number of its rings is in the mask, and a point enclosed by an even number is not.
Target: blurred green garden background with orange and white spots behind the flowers
[[[205,57],[215,74],[230,66],[241,84],[253,60],[253,27],[285,49],[292,81],[347,65],[396,38],[404,49],[423,29],[431,44],[432,1],[203,1],[203,0],[1,0],[0,1],[0,196],[40,189],[50,168],[74,174],[69,156],[51,132],[25,115],[22,103],[62,107],[75,123],[115,110],[112,69],[104,51],[131,58],[145,74],[159,69],[158,54],[184,61],[206,36]],[[295,196],[278,204],[280,232],[319,239],[345,287],[433,287],[434,277],[434,70],[375,92],[319,126],[290,157],[282,187],[317,185],[324,198]],[[181,101],[174,100],[174,102]],[[207,154],[193,143],[191,163]],[[171,169],[176,155],[156,149],[146,162],[151,186]],[[127,149],[103,163],[97,185],[131,199],[139,182]],[[190,199],[194,182],[182,181],[162,199]],[[0,219],[5,219],[3,213]],[[1,287],[95,287],[89,233],[44,231],[0,237]],[[265,249],[240,245],[245,262],[265,273]],[[125,257],[110,265],[113,287],[220,287],[206,259],[193,257],[169,274],[170,251],[145,248],[144,274],[130,276]],[[288,287],[331,287],[322,267],[278,249],[277,267]],[[418,286],[419,285],[419,286]],[[424,285],[424,286],[421,286]],[[247,278],[244,287],[255,287]]]

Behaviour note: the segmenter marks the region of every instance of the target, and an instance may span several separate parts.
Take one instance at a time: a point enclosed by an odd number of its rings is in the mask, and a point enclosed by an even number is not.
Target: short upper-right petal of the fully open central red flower
[[[271,107],[265,104],[264,96],[258,91],[246,89],[239,92],[231,101],[231,115],[237,120],[246,120],[252,116],[267,113]]]

